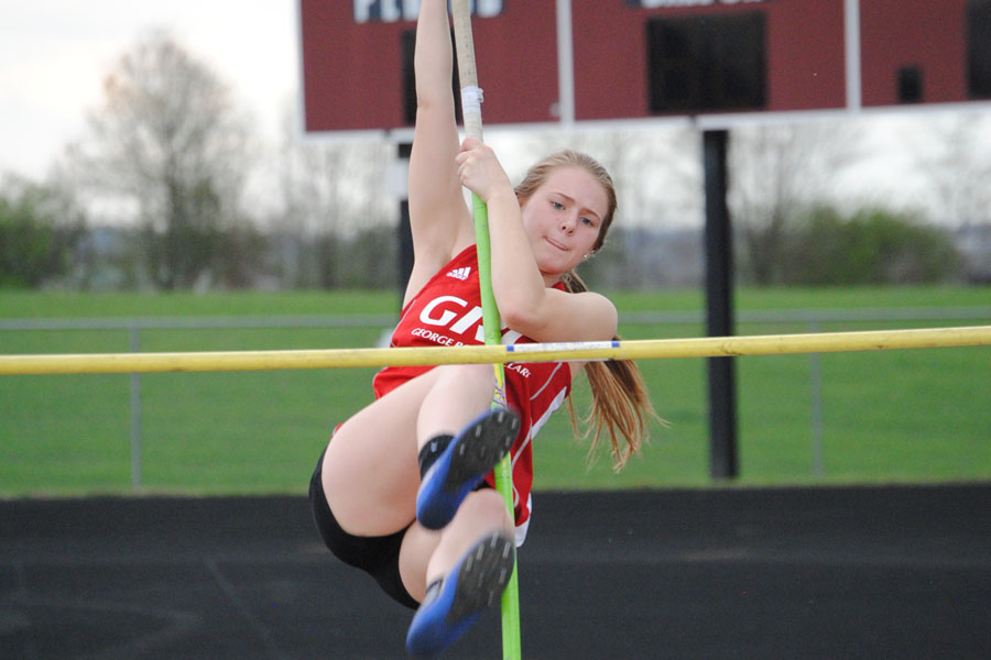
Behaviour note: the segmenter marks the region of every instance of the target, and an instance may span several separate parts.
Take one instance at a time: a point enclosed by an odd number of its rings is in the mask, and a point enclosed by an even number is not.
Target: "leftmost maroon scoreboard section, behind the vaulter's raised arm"
[[[301,0],[306,131],[413,125],[418,0]],[[477,1],[472,24],[489,123],[554,121],[553,0]]]

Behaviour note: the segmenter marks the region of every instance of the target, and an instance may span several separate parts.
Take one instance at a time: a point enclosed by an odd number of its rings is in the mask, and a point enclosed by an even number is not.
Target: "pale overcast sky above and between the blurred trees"
[[[296,11],[296,0],[0,0],[0,174],[42,180],[64,147],[84,135],[87,111],[102,101],[102,79],[157,29],[230,85],[262,140],[274,145],[298,98]],[[899,186],[911,193],[899,150],[906,135],[925,130],[926,114],[872,119],[878,156],[852,183],[867,190],[891,186],[892,200],[903,197]],[[504,134],[488,134],[497,148],[505,144]]]

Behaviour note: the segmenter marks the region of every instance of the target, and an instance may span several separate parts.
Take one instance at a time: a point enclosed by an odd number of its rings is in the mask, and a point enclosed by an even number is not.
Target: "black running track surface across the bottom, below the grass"
[[[520,571],[527,659],[991,658],[991,484],[537,493]],[[402,658],[411,616],[302,497],[0,502],[4,660]]]

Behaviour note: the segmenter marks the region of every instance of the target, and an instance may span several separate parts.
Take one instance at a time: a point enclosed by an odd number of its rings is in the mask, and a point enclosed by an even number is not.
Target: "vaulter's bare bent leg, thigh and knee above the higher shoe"
[[[483,410],[494,387],[491,365],[442,365],[358,411],[334,435],[322,482],[342,529],[381,536],[415,517],[418,447],[455,435]]]

